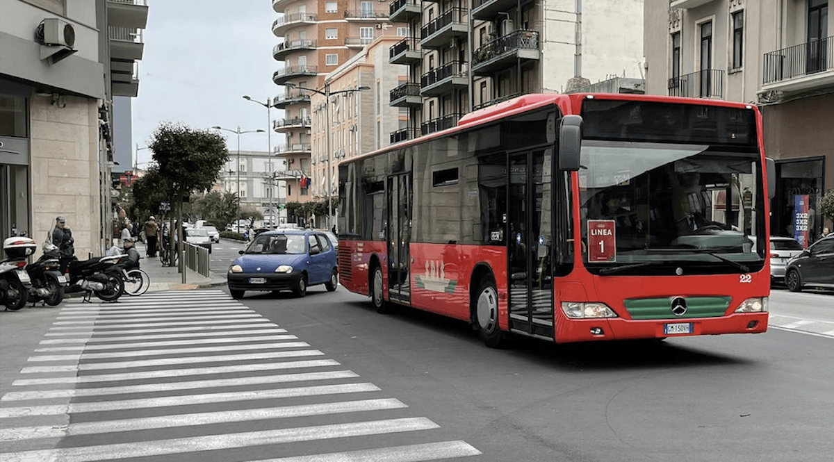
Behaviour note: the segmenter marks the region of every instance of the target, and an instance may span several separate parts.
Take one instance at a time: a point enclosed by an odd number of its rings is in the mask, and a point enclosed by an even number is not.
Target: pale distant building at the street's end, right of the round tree
[[[264,223],[280,224],[287,221],[284,206],[293,187],[280,178],[293,177],[300,178],[300,173],[288,169],[285,158],[268,151],[230,151],[214,190],[238,194],[241,208],[258,210]]]

